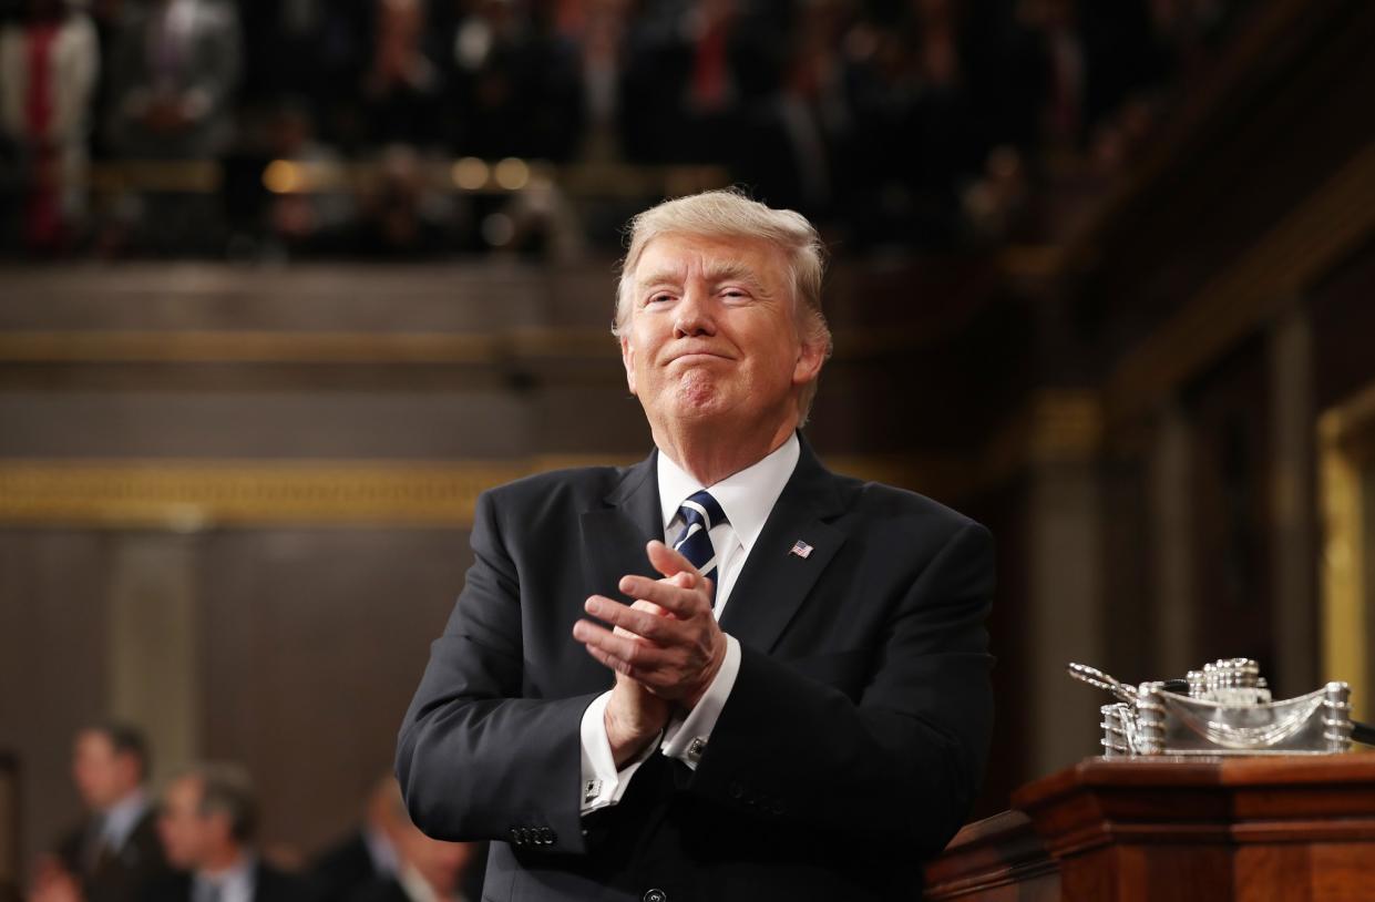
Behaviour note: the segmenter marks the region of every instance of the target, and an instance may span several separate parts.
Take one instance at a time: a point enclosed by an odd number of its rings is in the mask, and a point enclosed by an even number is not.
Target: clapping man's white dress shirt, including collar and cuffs
[[[672,543],[683,531],[683,520],[678,509],[693,492],[707,488],[726,513],[726,522],[715,524],[708,534],[716,551],[714,613],[718,620],[726,602],[730,601],[730,591],[736,586],[740,571],[744,569],[755,540],[759,539],[759,534],[764,528],[764,521],[769,520],[769,513],[798,466],[800,452],[798,436],[793,433],[764,459],[710,487],[693,478],[667,454],[659,452],[659,503],[663,509],[666,542]],[[676,758],[693,770],[697,769],[697,762],[711,740],[711,732],[716,726],[722,708],[726,707],[726,700],[730,697],[738,674],[740,644],[727,634],[726,659],[722,661],[720,670],[716,671],[711,686],[686,716],[675,716],[664,729],[659,742],[659,751],[663,755]],[[622,770],[616,770],[604,720],[609,701],[610,692],[605,692],[594,698],[583,712],[583,784],[580,795],[583,814],[620,802],[635,770],[654,752],[654,744],[650,744],[639,758],[628,762]]]

